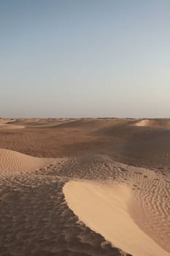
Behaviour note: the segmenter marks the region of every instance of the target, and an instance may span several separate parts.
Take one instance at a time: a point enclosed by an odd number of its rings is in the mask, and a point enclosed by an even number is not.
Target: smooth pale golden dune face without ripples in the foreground
[[[63,187],[69,207],[88,227],[134,256],[168,256],[128,212],[131,189],[120,184],[70,181]]]

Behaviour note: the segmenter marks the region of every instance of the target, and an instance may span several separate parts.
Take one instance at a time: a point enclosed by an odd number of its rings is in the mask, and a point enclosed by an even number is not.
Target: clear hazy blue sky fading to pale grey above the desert
[[[1,117],[170,117],[169,0],[0,0]]]

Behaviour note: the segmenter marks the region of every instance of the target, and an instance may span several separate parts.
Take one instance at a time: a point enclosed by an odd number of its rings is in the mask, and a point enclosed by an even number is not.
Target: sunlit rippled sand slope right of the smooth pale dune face
[[[129,211],[144,233],[170,252],[170,177],[148,173],[136,177]],[[137,188],[137,189],[136,189]]]

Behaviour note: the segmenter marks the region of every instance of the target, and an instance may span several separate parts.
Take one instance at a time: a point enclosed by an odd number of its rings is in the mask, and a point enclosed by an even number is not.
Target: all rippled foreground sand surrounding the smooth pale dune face
[[[80,180],[131,189],[128,211],[134,222],[170,252],[170,176],[163,169],[123,165],[105,155],[39,159],[1,149],[0,170],[3,256],[127,255],[80,223],[67,206],[63,185]]]

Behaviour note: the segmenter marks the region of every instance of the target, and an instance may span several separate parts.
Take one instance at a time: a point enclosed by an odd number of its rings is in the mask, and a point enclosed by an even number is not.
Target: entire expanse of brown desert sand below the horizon
[[[169,119],[0,119],[0,255],[170,255],[169,135]]]

